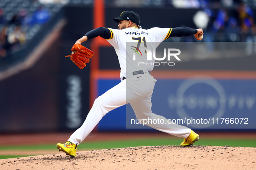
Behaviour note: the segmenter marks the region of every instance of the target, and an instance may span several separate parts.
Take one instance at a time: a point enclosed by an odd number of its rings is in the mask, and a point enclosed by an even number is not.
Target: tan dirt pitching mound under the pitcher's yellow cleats
[[[0,160],[1,170],[256,169],[256,148],[144,146]]]

